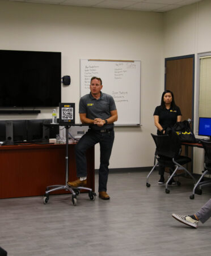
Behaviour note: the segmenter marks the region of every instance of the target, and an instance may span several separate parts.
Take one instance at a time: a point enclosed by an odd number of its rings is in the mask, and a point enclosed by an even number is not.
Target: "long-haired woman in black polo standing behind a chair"
[[[161,106],[157,106],[154,111],[154,124],[158,128],[157,135],[164,135],[167,127],[173,127],[176,122],[180,122],[182,114],[180,108],[174,102],[172,91],[166,90],[162,94]],[[164,183],[164,166],[159,166],[161,178],[158,184]],[[172,178],[168,184],[175,184]]]

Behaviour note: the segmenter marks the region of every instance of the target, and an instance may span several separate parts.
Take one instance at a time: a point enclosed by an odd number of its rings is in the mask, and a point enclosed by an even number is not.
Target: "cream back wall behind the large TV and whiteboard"
[[[115,128],[110,167],[153,164],[155,147],[150,133],[156,131],[153,112],[164,87],[163,14],[0,2],[0,35],[1,49],[62,52],[62,76],[71,75],[71,85],[62,87],[62,102],[75,102],[77,112],[80,58],[141,60],[142,127]],[[42,108],[37,116],[0,118],[50,118],[51,112]],[[95,152],[98,168],[99,146]]]

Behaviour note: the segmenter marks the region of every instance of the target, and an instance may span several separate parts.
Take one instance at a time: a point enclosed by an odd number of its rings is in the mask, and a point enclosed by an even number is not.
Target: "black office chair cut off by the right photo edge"
[[[201,140],[201,144],[203,145],[203,148],[205,150],[205,159],[204,159],[205,170],[202,172],[199,181],[197,181],[195,187],[193,188],[193,194],[190,195],[190,199],[194,199],[195,194],[198,194],[198,195],[202,194],[201,187],[211,184],[210,180],[209,181],[201,181],[204,178],[204,175],[211,174],[211,142]]]

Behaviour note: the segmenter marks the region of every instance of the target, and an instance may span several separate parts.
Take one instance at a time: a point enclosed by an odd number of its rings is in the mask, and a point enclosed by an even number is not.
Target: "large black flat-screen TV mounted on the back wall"
[[[0,50],[0,107],[57,107],[61,52]]]

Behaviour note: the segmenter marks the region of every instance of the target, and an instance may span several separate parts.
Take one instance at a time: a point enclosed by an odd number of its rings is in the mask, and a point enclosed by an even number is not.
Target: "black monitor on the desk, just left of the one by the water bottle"
[[[27,120],[27,140],[41,141],[43,139],[43,119]]]

